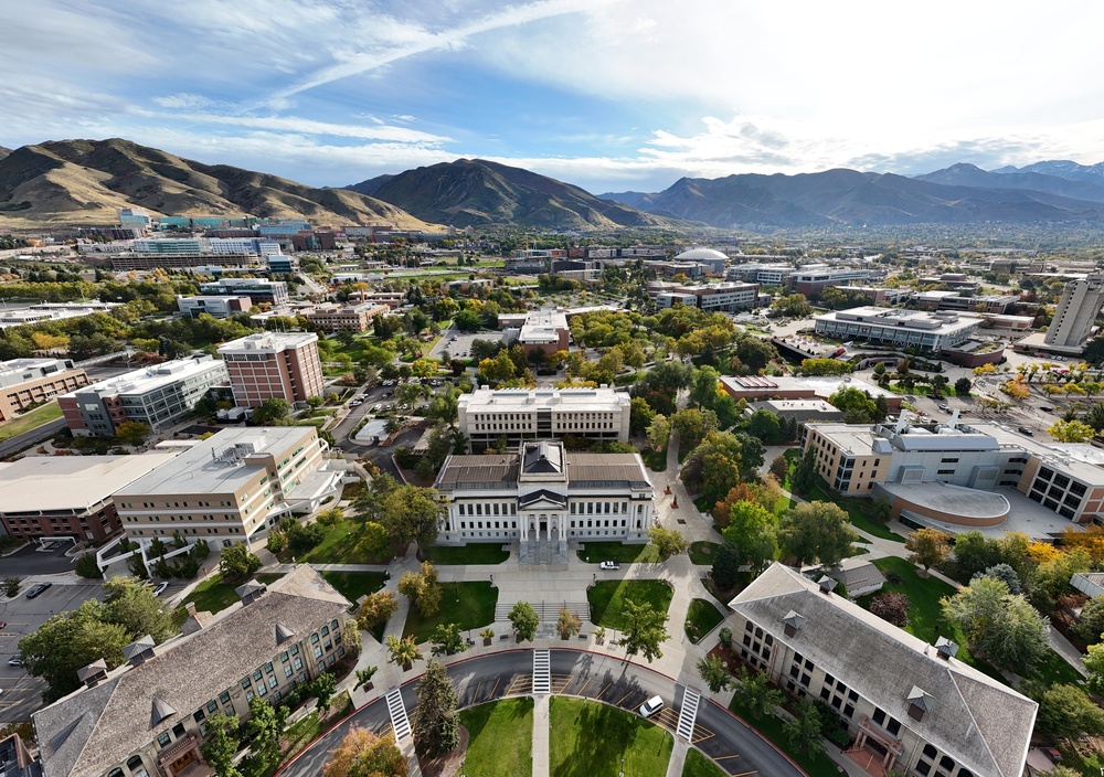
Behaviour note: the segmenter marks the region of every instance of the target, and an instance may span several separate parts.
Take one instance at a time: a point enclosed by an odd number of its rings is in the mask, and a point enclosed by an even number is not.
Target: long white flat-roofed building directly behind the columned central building
[[[457,403],[459,429],[474,451],[503,439],[628,439],[631,400],[608,387],[478,388]]]

